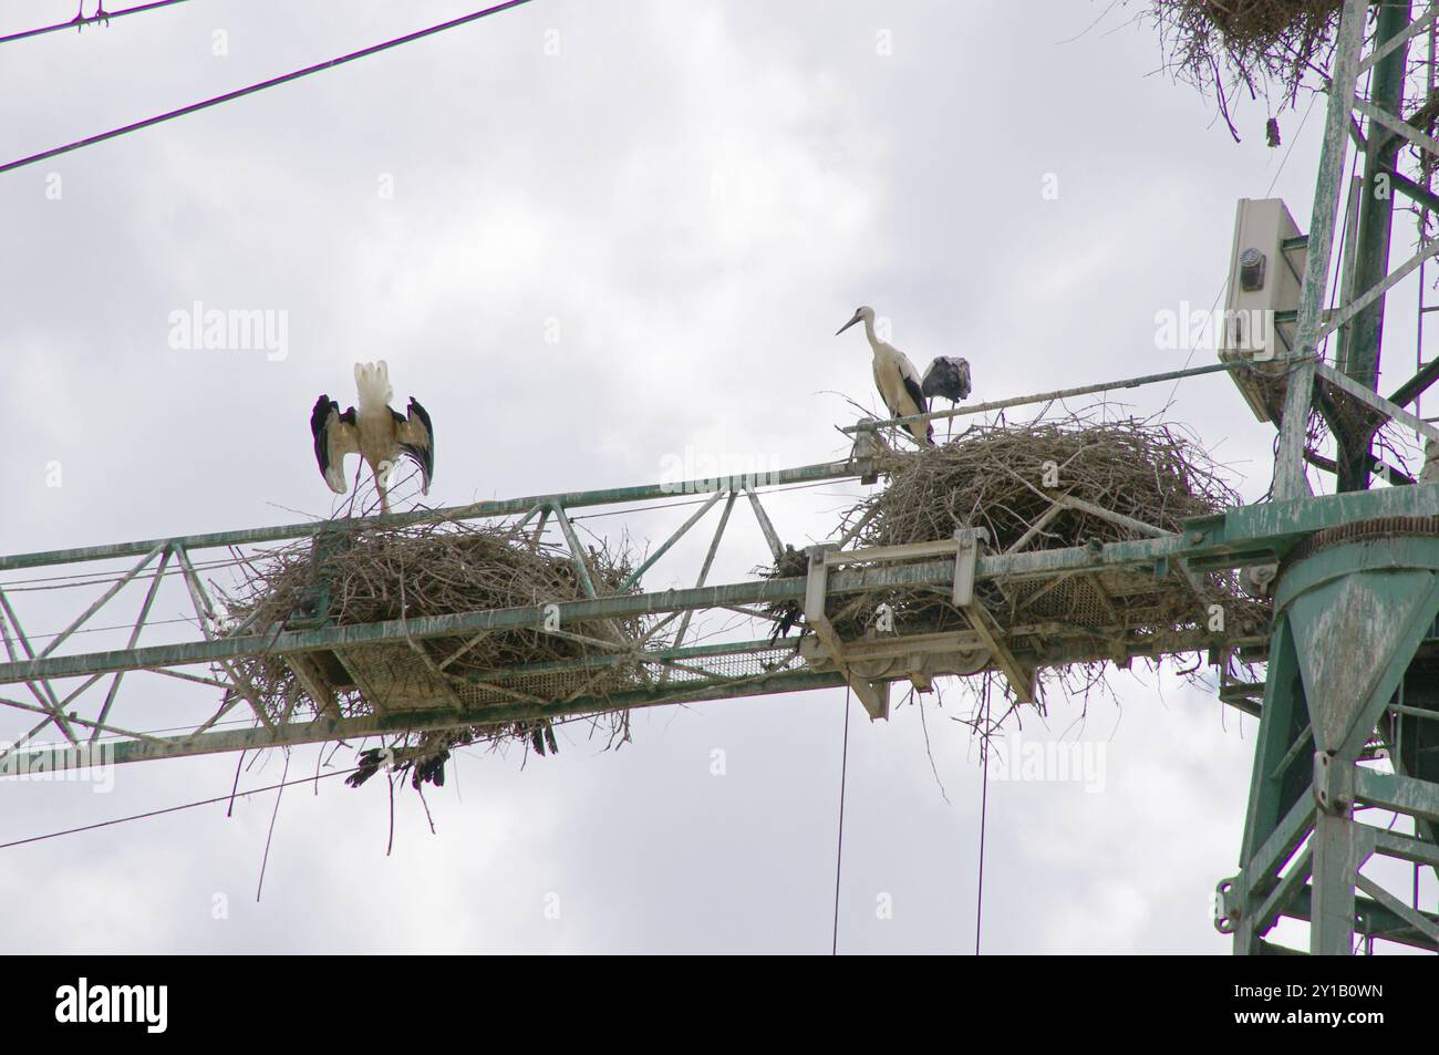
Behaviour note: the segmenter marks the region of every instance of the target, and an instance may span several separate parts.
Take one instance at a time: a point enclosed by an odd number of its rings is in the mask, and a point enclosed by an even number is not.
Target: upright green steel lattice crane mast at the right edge
[[[1331,417],[1340,446],[1340,489],[1350,492],[1340,499],[1390,494],[1363,491],[1374,422],[1387,416],[1435,438],[1374,389],[1384,294],[1439,252],[1439,242],[1426,240],[1404,263],[1389,265],[1392,193],[1433,204],[1394,166],[1404,142],[1439,157],[1439,141],[1399,117],[1407,45],[1435,24],[1439,4],[1427,4],[1417,19],[1410,0],[1377,4],[1366,56],[1368,7],[1345,0],[1338,24],[1298,311],[1298,361],[1288,374],[1279,427],[1275,505],[1294,508],[1304,521],[1305,511],[1333,501],[1305,497],[1305,442],[1315,406]],[[1360,98],[1360,79],[1370,71],[1368,98]],[[1340,301],[1325,312],[1350,141],[1366,154],[1351,227],[1357,236],[1347,243]],[[1340,338],[1334,366],[1320,358],[1330,334]],[[1432,380],[1416,377],[1396,399],[1417,399]],[[1379,416],[1338,427],[1333,406],[1344,399]],[[1439,613],[1439,538],[1432,537],[1435,521],[1425,520],[1432,514],[1423,499],[1435,489],[1396,489],[1416,499],[1407,520],[1358,515],[1347,528],[1308,524],[1315,534],[1275,583],[1240,872],[1219,884],[1216,925],[1235,936],[1236,953],[1279,951],[1265,940],[1279,917],[1309,921],[1311,953],[1348,954],[1356,934],[1439,947],[1439,915],[1420,910],[1417,879],[1413,898],[1402,898],[1361,871],[1376,855],[1439,866],[1439,695],[1433,666],[1416,658]],[[1318,544],[1325,540],[1330,544]],[[1389,753],[1392,774],[1366,764],[1377,746]],[[1413,835],[1361,823],[1366,809],[1409,818]]]

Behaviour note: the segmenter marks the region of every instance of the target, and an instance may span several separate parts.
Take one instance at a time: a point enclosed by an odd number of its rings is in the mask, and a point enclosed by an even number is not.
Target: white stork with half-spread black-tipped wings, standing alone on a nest
[[[360,455],[370,463],[374,486],[380,492],[380,512],[390,511],[389,476],[400,458],[420,466],[420,494],[430,492],[435,475],[435,429],[430,416],[413,397],[409,416],[401,417],[390,406],[390,368],[378,363],[355,363],[355,389],[360,409],[340,413],[340,404],[321,396],[309,415],[309,430],[315,436],[315,461],[330,489],[345,494],[345,455]]]

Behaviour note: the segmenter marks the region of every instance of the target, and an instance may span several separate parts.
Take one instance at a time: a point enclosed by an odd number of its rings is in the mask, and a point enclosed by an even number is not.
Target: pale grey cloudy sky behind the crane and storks
[[[0,160],[468,10],[193,0],[4,45]],[[843,456],[843,396],[876,402],[863,338],[833,337],[856,304],[915,360],[967,356],[976,399],[1184,366],[1156,312],[1215,301],[1236,199],[1272,186],[1307,226],[1322,107],[1301,131],[1301,99],[1278,151],[1268,114],[1242,112],[1236,145],[1156,72],[1132,10],[1085,33],[1102,12],[534,0],[0,176],[0,553],[328,515],[308,415],[319,391],[353,399],[357,360],[386,358],[397,399],[430,410],[436,504],[653,482],[685,458]],[[0,33],[73,13],[9,3]],[[283,341],[174,347],[196,302],[283,317]],[[1268,489],[1272,430],[1226,379],[1124,400],[1167,406],[1246,498]],[[789,492],[771,515],[817,540],[862,491]],[[712,581],[766,558],[738,512]],[[584,525],[658,541],[686,514]],[[649,586],[692,577],[705,543]],[[42,636],[94,593],[12,596]],[[180,594],[157,609],[184,616]],[[147,675],[125,689],[117,720],[140,728],[214,704]],[[1022,733],[1089,751],[1101,779],[990,784],[984,951],[1227,951],[1209,898],[1236,868],[1253,723],[1167,672],[1115,689],[1052,695]],[[840,951],[974,950],[968,710],[960,685],[922,721],[856,707]],[[390,856],[383,782],[292,787],[258,902],[273,794],[6,849],[0,898],[27,911],[0,947],[827,951],[842,731],[830,691],[640,712],[620,751],[570,733],[555,759],[462,756],[429,796],[436,835],[397,796]],[[285,766],[249,761],[242,787]],[[289,774],[317,761],[296,750]],[[224,794],[235,771],[4,782],[0,842]]]

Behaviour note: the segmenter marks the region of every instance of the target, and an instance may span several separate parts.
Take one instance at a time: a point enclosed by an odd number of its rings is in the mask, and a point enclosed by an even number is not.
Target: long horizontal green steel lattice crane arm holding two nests
[[[758,481],[760,488],[753,485],[730,488],[727,491],[705,491],[701,484],[671,485],[661,489],[656,486],[625,488],[606,492],[578,492],[567,499],[554,497],[525,498],[509,502],[486,504],[488,515],[514,515],[519,524],[530,524],[537,517],[543,518],[544,511],[551,514],[551,521],[561,525],[561,534],[571,543],[571,556],[583,558],[577,548],[578,540],[573,527],[564,531],[563,524],[568,508],[583,508],[589,504],[609,504],[613,501],[653,501],[668,495],[675,501],[692,501],[691,495],[708,495],[702,502],[701,512],[712,511],[721,505],[718,497],[727,497],[720,514],[720,522],[705,551],[704,566],[696,577],[696,586],[682,590],[646,592],[622,596],[597,596],[584,600],[558,602],[561,626],[594,619],[632,619],[635,616],[659,616],[662,625],[669,620],[681,620],[686,626],[696,612],[734,610],[740,609],[753,613],[754,606],[800,602],[812,590],[812,580],[807,577],[794,579],[755,579],[740,583],[725,583],[718,586],[707,584],[709,569],[715,553],[724,537],[730,512],[743,489],[747,501],[757,512],[757,522],[767,538],[767,545],[773,550],[778,543],[773,522],[763,511],[760,491],[766,486],[784,485],[796,478],[800,479],[837,479],[856,478],[871,472],[872,468],[862,462],[845,462],[829,466],[803,466],[802,469],[773,474],[773,479]],[[1055,495],[1056,508],[1069,504],[1066,495]],[[473,512],[473,507],[465,507]],[[1148,525],[1143,534],[1153,535],[1130,543],[1111,543],[1102,547],[1073,547],[1065,550],[1036,550],[1025,551],[1023,540],[1009,553],[984,553],[979,545],[967,545],[963,540],[937,543],[918,547],[898,547],[885,550],[823,550],[823,597],[843,597],[855,593],[871,592],[884,587],[921,586],[944,590],[955,599],[961,607],[973,599],[976,583],[1019,583],[1032,579],[1052,579],[1056,574],[1094,574],[1097,571],[1115,569],[1134,569],[1163,577],[1170,569],[1194,571],[1215,570],[1225,567],[1239,567],[1252,563],[1272,563],[1284,556],[1289,547],[1298,543],[1305,534],[1321,527],[1348,522],[1356,518],[1374,518],[1389,515],[1435,515],[1439,514],[1439,488],[1404,488],[1386,489],[1366,494],[1334,495],[1321,499],[1305,499],[1291,504],[1269,504],[1233,510],[1220,517],[1210,517],[1191,521],[1181,534],[1164,534]],[[417,522],[423,514],[403,514],[404,522]],[[456,511],[442,511],[429,514],[430,517],[456,517]],[[761,518],[763,515],[763,518]],[[374,522],[394,522],[390,518],[371,518]],[[659,548],[668,550],[678,537],[694,530],[702,522],[702,517],[689,514],[681,524],[676,534],[668,538]],[[768,524],[766,530],[764,525]],[[281,534],[273,528],[227,533],[212,535],[212,544],[229,545],[236,538],[252,540],[260,535],[268,537],[318,537],[331,522],[307,524],[283,530]],[[856,530],[850,528],[845,543],[852,543]],[[976,540],[979,541],[979,540]],[[317,720],[286,720],[273,728],[266,725],[266,717],[260,715],[250,701],[253,720],[259,723],[253,730],[216,730],[213,728],[230,710],[250,695],[248,687],[236,678],[233,662],[237,659],[260,655],[308,655],[335,648],[376,643],[419,642],[427,638],[465,638],[472,640],[478,635],[508,628],[537,628],[545,616],[543,605],[517,609],[482,610],[469,613],[455,613],[426,619],[391,620],[386,623],[371,623],[361,626],[314,626],[309,629],[281,629],[281,628],[235,628],[227,632],[217,630],[223,620],[214,615],[213,603],[196,571],[191,554],[199,550],[196,538],[158,540],[148,544],[121,544],[111,547],[88,547],[68,553],[24,554],[20,557],[0,558],[10,567],[40,567],[40,566],[69,566],[71,563],[86,563],[98,560],[101,556],[138,553],[145,558],[135,574],[127,581],[142,583],[145,574],[151,576],[147,600],[130,635],[130,646],[118,651],[101,652],[62,652],[49,649],[46,655],[27,652],[24,658],[13,656],[12,662],[0,664],[0,684],[29,684],[39,688],[39,704],[24,704],[23,701],[0,697],[0,702],[19,710],[29,710],[36,714],[50,715],[62,711],[62,704],[69,708],[73,697],[104,675],[119,675],[128,671],[164,672],[174,676],[197,681],[213,688],[223,688],[227,692],[224,704],[213,710],[210,717],[197,724],[189,734],[181,737],[163,738],[137,730],[117,727],[108,721],[114,695],[106,697],[101,714],[95,718],[76,715],[69,720],[73,728],[86,730],[89,741],[95,741],[101,733],[119,737],[115,746],[115,757],[127,760],[176,757],[180,754],[201,754],[217,750],[253,748],[265,744],[276,746],[286,743],[308,743],[328,738],[358,738],[377,731],[393,731],[394,728],[436,728],[456,724],[472,725],[481,721],[499,723],[504,720],[524,720],[531,717],[553,717],[557,714],[584,714],[594,710],[604,710],[604,702],[599,698],[578,695],[566,699],[538,699],[527,697],[522,691],[511,694],[511,702],[496,705],[498,710],[486,707],[484,715],[460,711],[427,711],[422,715],[409,715],[403,721],[384,715],[360,715],[341,718],[328,714]],[[150,569],[150,561],[160,554],[160,564]],[[150,612],[154,600],[157,583],[164,574],[183,576],[184,586],[191,596],[193,606],[199,613],[200,635],[197,639],[168,642],[158,645],[137,646],[140,629],[144,626],[145,613]],[[115,590],[108,592],[111,599]],[[106,602],[111,603],[111,602]],[[94,616],[101,606],[91,606]],[[12,613],[13,615],[13,613]],[[842,645],[839,658],[845,662],[871,664],[886,649],[889,653],[904,652],[921,655],[935,649],[951,653],[974,653],[986,649],[990,653],[996,669],[1003,671],[1020,695],[1026,681],[1032,676],[1035,666],[1042,664],[1065,662],[1095,653],[1097,648],[1108,649],[1108,643],[1097,643],[1085,639],[1082,633],[1075,633],[1063,626],[1046,628],[1012,628],[1017,633],[1033,633],[1050,642],[1052,651],[1046,655],[1016,655],[1010,653],[999,640],[994,628],[983,620],[976,612],[977,625],[971,625],[970,636],[960,639],[950,636],[945,642],[925,642],[899,639],[901,643],[885,645]],[[17,626],[16,620],[10,620]],[[650,632],[653,633],[653,630]],[[941,635],[943,636],[943,635]],[[600,669],[606,665],[640,662],[653,665],[659,672],[648,688],[636,689],[623,697],[612,697],[612,707],[640,707],[676,699],[715,699],[731,698],[734,695],[760,695],[768,692],[797,691],[820,685],[842,684],[843,674],[835,669],[825,669],[823,656],[814,656],[816,664],[810,664],[806,656],[796,656],[793,649],[783,645],[770,645],[764,639],[740,640],[718,645],[684,646],[684,633],[669,646],[650,645],[646,640],[630,642],[629,645],[609,645],[614,649],[609,659],[573,661],[570,669],[578,666],[584,671]],[[1215,642],[1206,635],[1176,636],[1173,639],[1151,639],[1148,642],[1131,642],[1125,646],[1122,656],[1112,653],[1109,658],[1125,661],[1130,655],[1163,655],[1166,652],[1193,651],[1212,646]],[[1259,643],[1249,642],[1250,645]],[[786,659],[786,655],[789,659]],[[711,666],[712,661],[732,656],[764,656],[770,669],[764,676],[743,675],[732,676]],[[827,656],[835,659],[833,655]],[[184,671],[183,668],[206,665],[216,671],[214,676],[204,676]],[[557,672],[566,669],[566,664],[530,665],[508,672],[495,682],[504,689],[511,682],[519,682],[525,675],[541,672]],[[679,681],[675,678],[684,674]],[[896,675],[905,676],[905,675]],[[60,699],[49,685],[52,679],[85,678],[88,679],[76,694]],[[852,676],[853,682],[858,679]],[[917,681],[917,684],[920,684]],[[114,684],[112,684],[114,689]],[[622,702],[620,702],[622,701]],[[876,708],[878,710],[878,708]],[[399,725],[396,725],[399,723]],[[79,735],[71,740],[73,748],[79,746]],[[40,760],[45,751],[35,751],[22,759]]]

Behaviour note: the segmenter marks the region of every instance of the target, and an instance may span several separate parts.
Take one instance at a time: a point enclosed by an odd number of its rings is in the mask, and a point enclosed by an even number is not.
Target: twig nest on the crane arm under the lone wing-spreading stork
[[[630,571],[627,553],[589,548],[586,571],[599,596],[614,594]],[[567,550],[528,531],[468,522],[360,530],[347,521],[317,538],[248,563],[226,597],[236,633],[361,626],[427,616],[545,606],[589,596]],[[394,717],[593,698],[587,717],[613,738],[627,737],[627,712],[607,710],[607,694],[636,688],[633,666],[614,662],[637,620],[596,619],[342,645],[232,661],[242,691],[273,721],[296,717]],[[391,723],[393,725],[394,723]],[[390,737],[360,757],[351,783],[381,761],[422,782],[443,783],[449,751],[466,744],[519,743],[537,754],[558,743],[548,720],[478,723]]]

